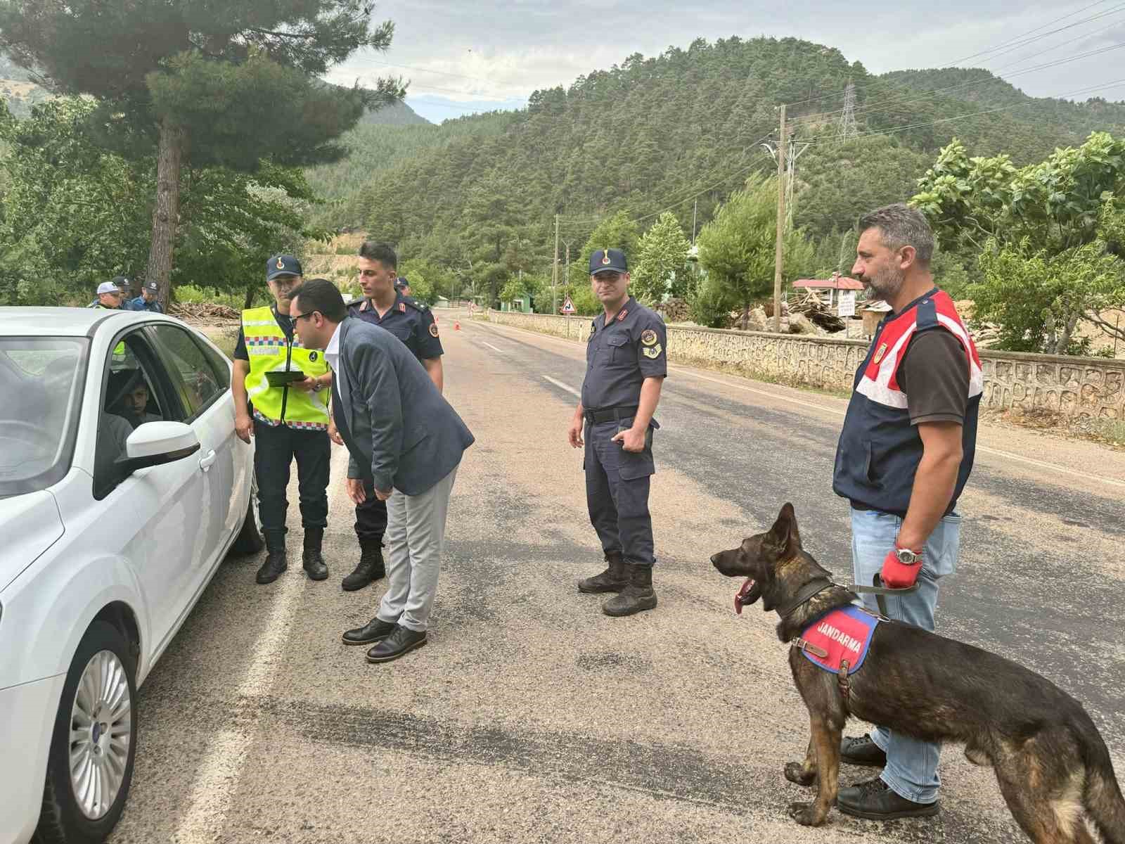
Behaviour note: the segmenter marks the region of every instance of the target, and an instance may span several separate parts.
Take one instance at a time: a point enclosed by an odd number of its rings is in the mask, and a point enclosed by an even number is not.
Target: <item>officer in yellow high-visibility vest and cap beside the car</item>
[[[242,327],[234,349],[235,432],[244,442],[254,437],[254,475],[258,512],[267,556],[258,569],[259,583],[272,583],[288,568],[285,553],[286,487],[289,466],[297,460],[300,521],[305,529],[303,565],[309,580],[323,581],[328,568],[321,544],[328,518],[328,396],[332,372],[317,350],[305,349],[294,338],[289,296],[302,282],[300,262],[274,255],[266,262],[266,281],[273,294],[269,307],[242,312]],[[295,372],[286,380],[272,372]],[[249,399],[249,401],[248,401]]]

